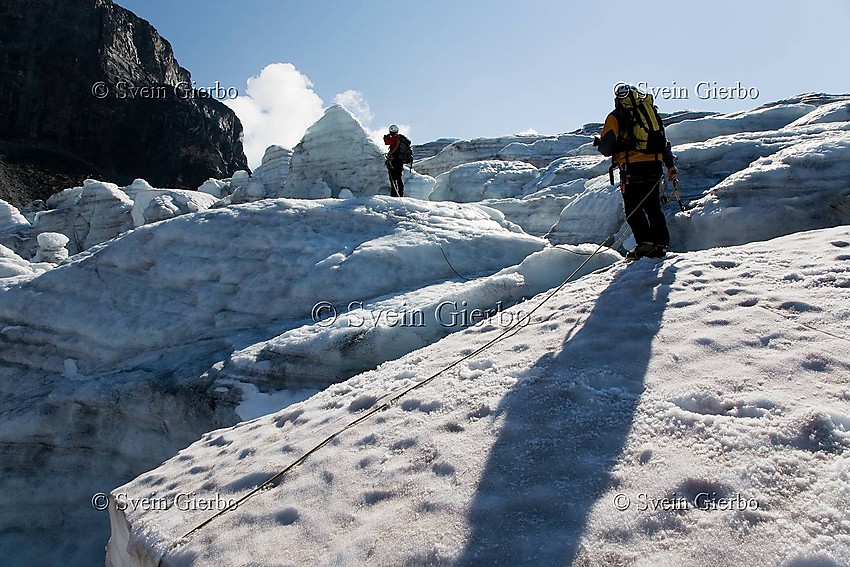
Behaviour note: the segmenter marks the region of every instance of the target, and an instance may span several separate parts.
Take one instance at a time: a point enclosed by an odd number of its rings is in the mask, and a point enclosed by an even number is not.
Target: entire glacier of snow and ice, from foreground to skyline
[[[383,148],[332,107],[291,158],[273,146],[253,176],[188,195],[221,198],[208,211],[144,180],[87,181],[28,208],[32,225],[10,211],[0,554],[99,562],[90,500],[122,486],[115,565],[166,549],[163,565],[847,564],[847,101],[671,117],[676,254],[625,266],[602,249],[492,351],[368,418],[522,321],[617,232],[593,128],[426,144],[442,151],[414,169],[445,173],[406,169],[412,198],[392,199],[375,196]],[[288,190],[339,199],[268,200]],[[446,194],[465,204],[428,201]],[[188,214],[134,228],[134,207]],[[46,233],[69,238],[58,267],[26,260]],[[209,510],[116,500],[239,497],[360,417],[183,546]],[[759,507],[663,509],[703,492]]]

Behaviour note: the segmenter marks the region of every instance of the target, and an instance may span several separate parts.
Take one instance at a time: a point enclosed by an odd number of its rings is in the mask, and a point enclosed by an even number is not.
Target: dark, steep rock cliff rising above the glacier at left
[[[20,206],[86,177],[194,189],[247,169],[239,119],[191,82],[111,0],[4,0],[0,199]]]

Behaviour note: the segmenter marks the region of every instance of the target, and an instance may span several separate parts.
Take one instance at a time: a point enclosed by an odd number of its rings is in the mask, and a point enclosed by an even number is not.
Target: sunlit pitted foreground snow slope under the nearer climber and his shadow
[[[210,432],[112,491],[107,564],[846,564],[848,250],[617,263]]]

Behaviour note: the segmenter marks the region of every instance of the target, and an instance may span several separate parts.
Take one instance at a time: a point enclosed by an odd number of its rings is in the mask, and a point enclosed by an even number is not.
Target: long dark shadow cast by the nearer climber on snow
[[[495,418],[503,426],[457,565],[576,559],[591,510],[614,486],[611,468],[632,428],[675,272],[651,260],[624,269],[561,351],[538,360],[502,400]]]

